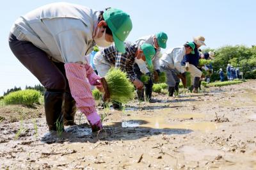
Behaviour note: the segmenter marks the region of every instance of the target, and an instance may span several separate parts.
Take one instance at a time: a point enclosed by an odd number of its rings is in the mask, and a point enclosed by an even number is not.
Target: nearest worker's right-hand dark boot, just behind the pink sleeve
[[[71,93],[65,93],[65,102],[63,105],[64,110],[64,125],[76,125],[75,115],[76,115],[76,101],[72,97]]]

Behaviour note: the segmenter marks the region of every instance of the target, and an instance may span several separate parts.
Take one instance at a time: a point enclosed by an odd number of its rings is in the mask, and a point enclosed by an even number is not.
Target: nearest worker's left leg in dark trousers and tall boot
[[[56,130],[57,121],[63,125],[61,106],[67,84],[64,75],[47,57],[47,54],[33,43],[19,41],[11,34],[9,45],[20,63],[26,66],[46,88],[44,95],[46,121],[49,130]]]

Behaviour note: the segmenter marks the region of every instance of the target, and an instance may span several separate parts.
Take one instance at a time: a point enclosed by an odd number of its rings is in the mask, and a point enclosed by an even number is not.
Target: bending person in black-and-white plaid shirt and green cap
[[[156,50],[148,43],[143,43],[143,45],[138,47],[134,43],[125,42],[125,53],[120,54],[115,45],[111,45],[95,54],[93,64],[100,77],[104,77],[111,67],[120,68],[127,72],[129,79],[136,89],[141,89],[143,88],[143,83],[136,77],[132,66],[139,59],[147,61],[147,65],[152,66],[152,58],[155,54]],[[114,109],[120,109],[120,106],[121,104],[113,102]]]

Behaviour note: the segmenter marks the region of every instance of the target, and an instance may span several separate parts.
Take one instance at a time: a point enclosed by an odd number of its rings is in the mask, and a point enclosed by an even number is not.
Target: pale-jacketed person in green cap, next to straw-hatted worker
[[[160,70],[166,72],[168,92],[172,97],[175,91],[175,85],[180,82],[178,76],[182,75],[184,78],[184,66],[181,65],[181,61],[186,54],[194,53],[195,44],[193,42],[187,42],[182,47],[176,47],[168,49],[164,52],[160,58]],[[185,84],[186,86],[186,84]]]

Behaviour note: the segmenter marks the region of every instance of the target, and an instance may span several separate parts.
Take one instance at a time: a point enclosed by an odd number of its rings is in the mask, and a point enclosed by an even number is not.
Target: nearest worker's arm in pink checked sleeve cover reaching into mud
[[[77,109],[86,115],[92,130],[102,128],[100,116],[95,109],[95,101],[92,97],[91,86],[86,79],[87,61],[84,54],[87,50],[86,35],[83,31],[68,30],[56,35],[58,48],[61,50],[61,57],[65,62],[65,72],[70,87],[70,92],[76,101]],[[90,72],[88,70],[88,72]]]

